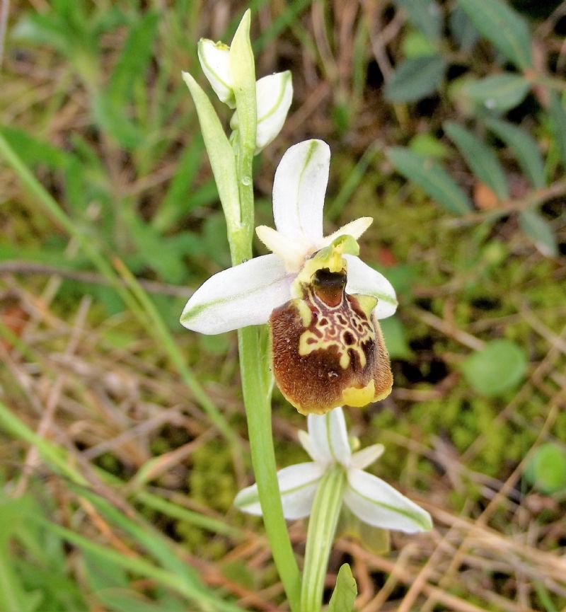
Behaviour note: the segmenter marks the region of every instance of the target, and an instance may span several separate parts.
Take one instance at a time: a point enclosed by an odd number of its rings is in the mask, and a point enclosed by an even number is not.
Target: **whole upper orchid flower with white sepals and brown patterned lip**
[[[205,334],[270,323],[275,381],[303,414],[364,406],[393,383],[378,319],[395,312],[395,291],[357,257],[371,217],[323,236],[329,168],[325,142],[291,146],[275,173],[277,230],[256,229],[272,253],[208,279],[181,316]]]

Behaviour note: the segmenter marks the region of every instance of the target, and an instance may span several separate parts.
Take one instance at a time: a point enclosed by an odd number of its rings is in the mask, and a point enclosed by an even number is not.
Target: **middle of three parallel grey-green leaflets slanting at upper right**
[[[507,200],[509,198],[507,179],[495,153],[461,125],[445,121],[443,127],[476,178],[490,187],[499,200]]]

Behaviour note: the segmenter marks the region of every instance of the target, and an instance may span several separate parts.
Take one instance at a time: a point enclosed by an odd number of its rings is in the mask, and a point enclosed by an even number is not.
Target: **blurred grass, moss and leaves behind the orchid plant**
[[[347,560],[363,612],[566,609],[565,4],[251,4],[258,74],[295,89],[258,224],[282,152],[327,140],[326,229],[374,216],[362,254],[400,296],[394,391],[347,418],[436,526],[385,555],[341,538],[328,586]],[[1,6],[0,609],[282,609],[231,506],[236,336],[178,324],[229,265],[180,71],[202,82],[196,41],[246,5]],[[279,465],[303,460],[303,417],[273,418]]]

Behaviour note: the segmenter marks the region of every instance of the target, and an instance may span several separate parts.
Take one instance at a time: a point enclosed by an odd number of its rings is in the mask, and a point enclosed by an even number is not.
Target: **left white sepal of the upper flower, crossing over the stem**
[[[203,334],[267,323],[272,310],[289,300],[289,287],[283,262],[262,255],[209,278],[187,302],[181,323]]]

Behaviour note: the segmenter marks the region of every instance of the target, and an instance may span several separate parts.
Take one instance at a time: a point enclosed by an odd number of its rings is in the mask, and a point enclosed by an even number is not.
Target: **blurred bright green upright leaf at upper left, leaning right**
[[[130,28],[108,83],[107,96],[112,103],[127,103],[132,98],[136,79],[144,79],[157,35],[157,23],[157,13],[146,13]]]

